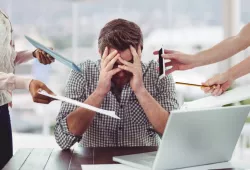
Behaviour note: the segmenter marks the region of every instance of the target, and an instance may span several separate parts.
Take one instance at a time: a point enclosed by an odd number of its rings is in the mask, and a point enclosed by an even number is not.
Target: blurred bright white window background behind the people
[[[24,38],[30,36],[75,63],[97,60],[97,38],[108,21],[124,18],[137,23],[144,35],[142,60],[163,45],[186,53],[207,49],[235,35],[250,21],[249,0],[1,0],[0,8],[13,24],[16,50],[34,50]],[[185,72],[175,72],[175,81],[201,83],[225,71],[250,55],[249,49],[233,58]],[[59,62],[44,66],[33,60],[16,68],[16,74],[45,82],[56,94],[64,95],[69,69]],[[250,83],[250,75],[233,86]],[[196,87],[176,86],[180,103],[205,94]],[[248,104],[248,100],[236,104]],[[54,147],[55,118],[60,102],[39,105],[25,90],[16,90],[11,109],[14,148]],[[235,157],[249,153],[250,127],[246,123],[237,144]]]

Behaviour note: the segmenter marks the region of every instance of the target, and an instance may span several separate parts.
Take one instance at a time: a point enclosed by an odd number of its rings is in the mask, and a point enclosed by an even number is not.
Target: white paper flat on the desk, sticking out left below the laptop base
[[[122,164],[82,165],[82,170],[138,170]]]

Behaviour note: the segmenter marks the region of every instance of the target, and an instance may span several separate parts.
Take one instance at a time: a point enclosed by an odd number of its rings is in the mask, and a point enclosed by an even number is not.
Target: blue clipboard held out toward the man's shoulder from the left
[[[67,58],[64,58],[63,56],[61,56],[60,54],[56,53],[55,51],[45,47],[44,45],[40,44],[39,42],[33,40],[32,38],[25,36],[25,38],[36,48],[41,49],[43,51],[45,51],[47,54],[49,54],[50,56],[52,56],[54,59],[58,60],[59,62],[61,62],[62,64],[70,67],[71,69],[77,71],[77,72],[82,72],[82,70],[72,61],[68,60]]]

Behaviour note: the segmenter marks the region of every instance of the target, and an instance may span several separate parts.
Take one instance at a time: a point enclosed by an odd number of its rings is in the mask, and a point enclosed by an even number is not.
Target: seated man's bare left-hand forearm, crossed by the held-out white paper
[[[85,104],[89,104],[94,107],[101,107],[105,96],[100,95],[97,91],[94,91],[85,101]],[[92,123],[92,120],[95,117],[95,112],[85,109],[85,108],[78,108],[75,111],[71,112],[67,116],[67,125],[69,131],[77,136],[81,136],[87,128]]]

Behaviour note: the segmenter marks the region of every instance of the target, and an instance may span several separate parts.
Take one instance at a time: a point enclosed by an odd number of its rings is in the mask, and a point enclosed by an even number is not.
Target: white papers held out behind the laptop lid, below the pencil
[[[221,107],[250,98],[250,86],[241,86],[225,92],[220,96],[209,96],[191,102],[184,102],[181,109],[199,109]]]

